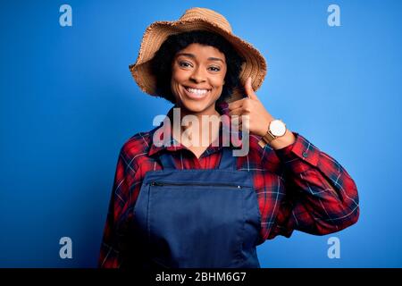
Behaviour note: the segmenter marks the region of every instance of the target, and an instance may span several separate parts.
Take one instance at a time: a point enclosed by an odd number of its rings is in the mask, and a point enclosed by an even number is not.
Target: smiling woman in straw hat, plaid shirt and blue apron
[[[255,94],[264,57],[221,14],[193,8],[153,23],[130,71],[175,108],[121,147],[100,267],[257,268],[264,240],[356,223],[355,182],[265,109]]]

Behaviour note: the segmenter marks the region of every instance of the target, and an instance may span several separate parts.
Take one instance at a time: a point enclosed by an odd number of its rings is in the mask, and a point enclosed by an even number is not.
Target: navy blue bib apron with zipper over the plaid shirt
[[[237,171],[231,152],[223,147],[218,168],[203,170],[177,170],[163,153],[163,170],[147,172],[133,215],[143,267],[260,267],[252,177]]]

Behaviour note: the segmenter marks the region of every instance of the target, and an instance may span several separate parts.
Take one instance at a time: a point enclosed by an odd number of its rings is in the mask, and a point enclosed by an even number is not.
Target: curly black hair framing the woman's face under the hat
[[[233,88],[240,85],[239,74],[245,59],[236,52],[228,40],[219,34],[206,30],[182,32],[166,38],[151,60],[151,71],[156,78],[157,95],[175,104],[176,100],[171,89],[172,61],[180,50],[194,43],[214,46],[226,57],[225,84],[222,88],[221,97],[217,100],[217,103],[221,103],[231,96]]]

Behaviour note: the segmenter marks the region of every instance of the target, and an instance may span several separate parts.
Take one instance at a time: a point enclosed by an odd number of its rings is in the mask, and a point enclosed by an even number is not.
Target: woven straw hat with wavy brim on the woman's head
[[[156,94],[156,80],[151,72],[150,60],[170,35],[197,29],[215,32],[226,38],[246,60],[239,75],[241,85],[244,85],[247,78],[251,77],[254,90],[261,86],[267,69],[264,56],[254,46],[235,36],[229,21],[220,13],[205,8],[191,8],[186,10],[178,21],[155,21],[147,27],[137,61],[130,64],[131,74],[139,88],[151,96],[160,96]],[[243,96],[241,90],[235,88],[229,100],[241,98]]]

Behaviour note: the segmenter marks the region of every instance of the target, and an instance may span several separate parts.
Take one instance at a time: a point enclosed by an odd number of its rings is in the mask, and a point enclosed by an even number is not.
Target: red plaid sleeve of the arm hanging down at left
[[[114,174],[112,195],[106,216],[103,240],[98,258],[99,268],[118,268],[121,266],[121,243],[119,241],[119,229],[124,222],[122,214],[128,207],[128,194],[130,188],[130,171],[131,166],[123,149],[117,161],[116,171]]]

